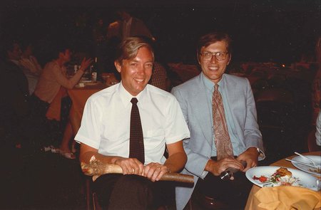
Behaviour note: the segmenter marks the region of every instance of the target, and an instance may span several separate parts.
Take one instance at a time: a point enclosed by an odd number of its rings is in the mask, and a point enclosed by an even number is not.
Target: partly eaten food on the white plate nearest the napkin
[[[254,180],[258,180],[263,184],[271,184],[272,186],[301,186],[300,180],[296,177],[292,177],[292,173],[285,167],[280,167],[272,175],[261,175],[260,177],[253,177]]]

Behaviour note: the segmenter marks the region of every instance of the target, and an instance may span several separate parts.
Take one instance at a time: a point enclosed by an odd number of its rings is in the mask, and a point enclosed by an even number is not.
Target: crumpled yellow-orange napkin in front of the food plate
[[[321,193],[303,187],[263,187],[248,202],[250,204],[247,204],[247,209],[320,209]]]

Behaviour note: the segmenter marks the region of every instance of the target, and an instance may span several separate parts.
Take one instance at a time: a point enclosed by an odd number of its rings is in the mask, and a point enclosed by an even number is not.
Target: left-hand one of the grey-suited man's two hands
[[[228,169],[229,167],[233,167],[241,171],[244,169],[243,164],[238,159],[235,159],[234,157],[225,157],[219,161],[209,159],[205,166],[205,171],[211,172],[214,176],[219,176],[220,173],[224,172],[225,169]]]

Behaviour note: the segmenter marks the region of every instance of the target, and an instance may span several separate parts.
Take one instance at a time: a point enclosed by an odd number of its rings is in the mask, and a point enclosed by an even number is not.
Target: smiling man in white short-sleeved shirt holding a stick
[[[189,131],[173,95],[148,85],[153,61],[148,42],[126,38],[116,51],[121,83],[91,95],[86,102],[75,137],[81,142],[80,161],[88,163],[94,155],[123,169],[123,174],[105,174],[93,182],[103,208],[157,209],[175,203],[173,183],[156,181],[184,167],[182,140],[189,137]],[[137,132],[136,120],[131,120],[135,107],[141,122]]]

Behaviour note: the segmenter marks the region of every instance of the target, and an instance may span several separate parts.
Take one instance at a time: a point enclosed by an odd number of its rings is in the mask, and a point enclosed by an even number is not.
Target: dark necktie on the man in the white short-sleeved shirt
[[[144,164],[144,141],[143,141],[143,129],[141,128],[141,117],[139,116],[138,100],[132,98],[131,103],[131,130],[129,137],[129,157],[137,158]]]

